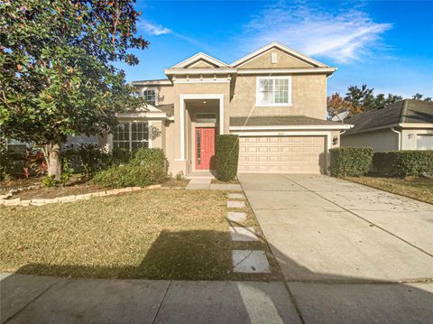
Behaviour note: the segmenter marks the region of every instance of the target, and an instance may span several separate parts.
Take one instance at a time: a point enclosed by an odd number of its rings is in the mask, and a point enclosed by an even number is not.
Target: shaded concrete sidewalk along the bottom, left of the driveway
[[[300,323],[282,282],[0,278],[2,324]]]

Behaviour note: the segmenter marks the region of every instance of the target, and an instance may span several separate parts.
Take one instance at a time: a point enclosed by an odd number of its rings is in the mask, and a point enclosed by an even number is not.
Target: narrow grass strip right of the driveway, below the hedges
[[[401,196],[418,199],[433,204],[432,179],[418,177],[407,177],[405,179],[380,177],[348,177],[346,179],[376,189],[389,191]]]

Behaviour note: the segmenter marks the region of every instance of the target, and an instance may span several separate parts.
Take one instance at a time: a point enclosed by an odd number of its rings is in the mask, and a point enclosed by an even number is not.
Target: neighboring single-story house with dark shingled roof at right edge
[[[355,125],[342,146],[371,146],[374,152],[433,150],[433,102],[404,99],[345,119]]]

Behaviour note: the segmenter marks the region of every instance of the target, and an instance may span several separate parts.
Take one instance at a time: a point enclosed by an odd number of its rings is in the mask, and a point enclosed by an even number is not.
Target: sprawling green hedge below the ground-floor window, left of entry
[[[160,183],[167,175],[166,157],[161,149],[139,149],[125,165],[113,165],[97,172],[93,181],[103,187],[145,187]]]

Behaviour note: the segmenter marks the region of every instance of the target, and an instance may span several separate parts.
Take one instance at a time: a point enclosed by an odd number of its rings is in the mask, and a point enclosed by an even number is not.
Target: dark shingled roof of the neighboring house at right
[[[433,102],[404,99],[388,106],[346,118],[345,123],[355,125],[354,128],[347,130],[345,135],[400,124],[432,124]]]

